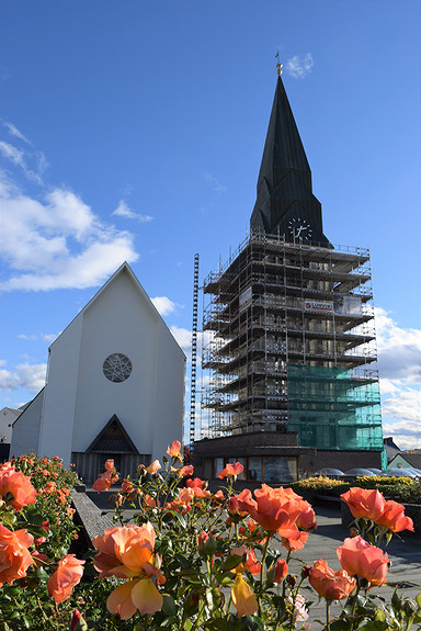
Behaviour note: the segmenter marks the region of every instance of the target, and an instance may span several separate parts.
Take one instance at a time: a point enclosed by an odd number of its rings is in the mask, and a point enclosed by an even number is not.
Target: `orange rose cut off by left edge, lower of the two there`
[[[10,531],[0,523],[0,587],[12,584],[16,578],[26,576],[26,570],[33,563],[27,550],[34,538],[26,530]]]

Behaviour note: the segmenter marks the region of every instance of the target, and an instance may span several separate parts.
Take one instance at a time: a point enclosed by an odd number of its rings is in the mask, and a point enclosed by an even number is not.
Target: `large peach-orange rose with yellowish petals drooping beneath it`
[[[105,530],[104,537],[98,534],[92,543],[99,550],[93,565],[100,573],[100,578],[136,577],[110,594],[106,601],[110,613],[118,613],[123,620],[127,620],[136,610],[140,613],[160,611],[163,599],[150,578],[161,576],[158,555],[153,556],[152,526],[115,526]]]

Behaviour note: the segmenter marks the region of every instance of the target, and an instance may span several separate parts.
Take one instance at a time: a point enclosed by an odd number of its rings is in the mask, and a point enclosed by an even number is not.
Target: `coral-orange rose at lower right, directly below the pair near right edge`
[[[349,574],[357,574],[366,578],[371,586],[383,585],[386,582],[389,560],[387,552],[371,545],[362,537],[345,539],[343,545],[337,548],[339,561]]]

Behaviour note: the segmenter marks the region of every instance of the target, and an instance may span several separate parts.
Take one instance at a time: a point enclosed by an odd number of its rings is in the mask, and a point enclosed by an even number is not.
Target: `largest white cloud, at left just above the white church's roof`
[[[78,195],[55,189],[38,201],[3,182],[2,247],[9,278],[0,290],[84,289],[102,283],[125,260],[134,236],[104,225]]]

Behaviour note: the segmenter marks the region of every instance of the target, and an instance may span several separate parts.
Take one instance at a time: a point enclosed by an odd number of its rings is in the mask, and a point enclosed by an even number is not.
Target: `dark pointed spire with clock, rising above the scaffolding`
[[[281,77],[276,83],[250,226],[252,230],[285,235],[287,241],[303,238],[307,243],[330,246],[322,232],[321,204],[312,194],[310,167]]]

